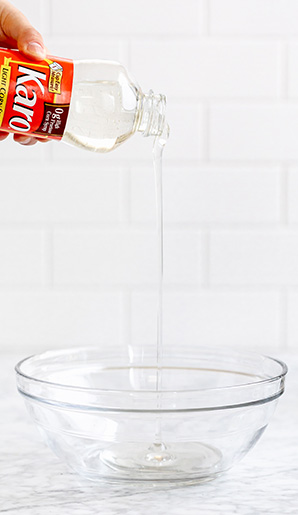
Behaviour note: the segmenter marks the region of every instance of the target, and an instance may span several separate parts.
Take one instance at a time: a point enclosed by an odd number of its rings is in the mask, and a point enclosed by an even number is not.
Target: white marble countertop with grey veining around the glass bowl
[[[0,513],[9,515],[290,515],[298,513],[298,355],[286,393],[256,447],[202,485],[107,486],[79,478],[43,444],[16,391],[14,364],[0,358]]]

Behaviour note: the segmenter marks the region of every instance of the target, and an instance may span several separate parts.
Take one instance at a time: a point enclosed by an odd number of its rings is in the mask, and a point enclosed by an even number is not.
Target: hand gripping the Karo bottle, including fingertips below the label
[[[46,57],[46,48],[39,32],[7,0],[0,0],[0,46],[18,48],[24,55],[35,61],[42,61]],[[0,130],[0,141],[7,136],[7,132]],[[37,141],[47,141],[23,134],[14,134],[13,138],[22,145],[34,145]]]

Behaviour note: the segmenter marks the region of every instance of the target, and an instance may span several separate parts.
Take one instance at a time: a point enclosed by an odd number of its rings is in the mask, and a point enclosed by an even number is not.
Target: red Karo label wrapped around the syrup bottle
[[[0,48],[0,130],[61,139],[69,111],[73,61],[34,62]]]

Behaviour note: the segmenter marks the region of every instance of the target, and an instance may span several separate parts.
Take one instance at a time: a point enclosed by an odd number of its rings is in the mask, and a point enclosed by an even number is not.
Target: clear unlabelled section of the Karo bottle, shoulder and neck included
[[[75,61],[63,141],[107,152],[137,131],[144,136],[161,134],[164,113],[165,97],[152,91],[143,94],[120,64]]]

